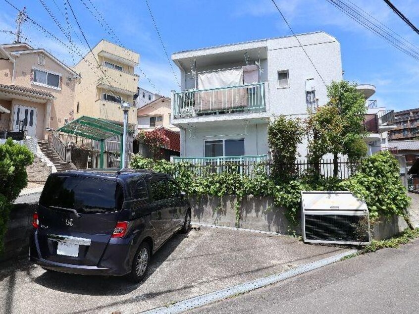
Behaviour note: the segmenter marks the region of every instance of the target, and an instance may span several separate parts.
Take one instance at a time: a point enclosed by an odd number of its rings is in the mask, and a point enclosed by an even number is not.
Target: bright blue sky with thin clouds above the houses
[[[44,0],[66,29],[64,0]],[[139,52],[140,67],[164,95],[178,90],[167,58],[158,41],[144,0],[83,0],[92,11],[92,2],[105,17],[122,44]],[[419,35],[410,29],[382,0],[352,0],[369,14],[419,47]],[[39,24],[68,44],[39,0],[11,0],[23,8]],[[16,11],[0,0],[0,30],[15,29]],[[160,34],[169,55],[172,52],[208,46],[290,35],[271,0],[149,0]],[[393,3],[419,27],[419,1],[393,0]],[[102,38],[115,42],[82,4],[71,0],[89,44],[93,47]],[[386,41],[364,29],[326,0],[277,0],[278,6],[296,33],[323,30],[341,44],[344,78],[358,83],[374,84],[372,97],[379,105],[396,110],[419,107],[419,61],[396,50]],[[60,11],[59,11],[60,10]],[[69,21],[78,30],[69,12]],[[56,41],[42,34],[30,22],[23,26],[23,35],[33,47],[52,52],[67,64],[73,56]],[[80,33],[77,36],[82,38]],[[87,52],[83,42],[72,34],[80,51]],[[0,33],[0,42],[13,40]],[[77,62],[79,56],[75,55]],[[178,75],[176,66],[173,64]],[[141,75],[140,85],[154,91]],[[179,76],[178,76],[179,77]]]

